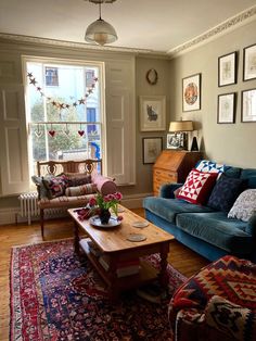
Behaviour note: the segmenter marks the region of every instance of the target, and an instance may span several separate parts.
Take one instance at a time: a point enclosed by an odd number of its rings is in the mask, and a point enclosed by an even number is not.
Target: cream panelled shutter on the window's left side
[[[0,195],[29,188],[27,132],[22,85],[0,86]]]

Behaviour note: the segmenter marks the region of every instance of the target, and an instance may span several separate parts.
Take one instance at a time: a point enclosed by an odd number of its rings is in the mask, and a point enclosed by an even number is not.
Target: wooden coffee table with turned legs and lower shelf
[[[99,228],[92,226],[89,220],[80,222],[78,218],[77,209],[69,209],[67,212],[74,219],[74,247],[79,254],[80,249],[86,253],[97,271],[107,285],[108,292],[112,299],[116,298],[123,290],[137,288],[143,283],[148,283],[155,278],[159,279],[163,287],[167,285],[166,266],[167,255],[169,252],[169,243],[174,236],[167,233],[163,229],[149,223],[146,227],[133,227],[135,222],[148,222],[138,216],[126,207],[120,215],[124,217],[121,224],[114,228]],[[108,270],[105,270],[100,264],[99,258],[89,250],[86,239],[80,239],[79,230],[93,241],[95,247],[107,255]],[[143,241],[129,241],[130,235],[140,233],[146,237]],[[161,268],[157,271],[149,262],[140,258],[140,271],[136,275],[126,277],[117,277],[117,266],[124,261],[129,262],[138,257],[146,256],[153,253],[161,255]]]

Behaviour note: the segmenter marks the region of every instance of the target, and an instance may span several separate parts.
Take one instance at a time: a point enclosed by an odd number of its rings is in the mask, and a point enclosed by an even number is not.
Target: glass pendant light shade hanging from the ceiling
[[[111,24],[98,18],[87,27],[85,39],[88,42],[97,42],[103,46],[116,41],[117,34]]]

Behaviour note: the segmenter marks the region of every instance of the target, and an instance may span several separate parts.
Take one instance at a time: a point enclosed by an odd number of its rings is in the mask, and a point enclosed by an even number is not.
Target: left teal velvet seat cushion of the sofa
[[[143,200],[143,207],[155,215],[176,224],[176,216],[184,212],[213,212],[212,209],[191,204],[177,199],[165,199],[157,197],[148,197]]]

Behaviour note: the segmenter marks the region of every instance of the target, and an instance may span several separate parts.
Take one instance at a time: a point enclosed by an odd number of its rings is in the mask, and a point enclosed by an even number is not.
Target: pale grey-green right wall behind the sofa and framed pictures
[[[256,21],[170,61],[170,117],[196,122],[202,149],[209,160],[256,167],[256,123],[241,123],[241,90],[256,88],[242,80],[243,48],[256,43]],[[218,88],[218,56],[238,51],[238,83]],[[182,113],[182,78],[202,73],[202,110]],[[217,97],[236,92],[235,124],[217,124]]]

